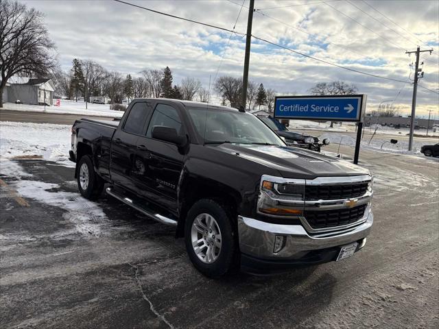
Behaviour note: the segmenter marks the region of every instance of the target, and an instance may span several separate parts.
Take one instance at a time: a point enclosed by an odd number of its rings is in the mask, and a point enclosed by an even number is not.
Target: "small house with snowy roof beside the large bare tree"
[[[10,86],[5,88],[7,101],[14,103],[14,101],[19,99],[23,104],[54,104],[55,86],[50,79],[25,79],[27,82],[24,83],[23,80],[19,82],[19,80],[11,79]],[[3,101],[5,100],[3,99]]]

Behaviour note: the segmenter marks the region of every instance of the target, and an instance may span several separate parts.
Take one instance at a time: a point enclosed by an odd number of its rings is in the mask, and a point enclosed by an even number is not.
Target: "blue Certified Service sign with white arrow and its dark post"
[[[354,163],[358,163],[366,95],[280,96],[274,101],[274,118],[357,122]]]

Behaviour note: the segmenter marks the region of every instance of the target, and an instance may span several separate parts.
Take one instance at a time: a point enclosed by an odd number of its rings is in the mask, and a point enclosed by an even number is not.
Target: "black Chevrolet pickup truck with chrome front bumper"
[[[71,146],[84,197],[107,183],[109,195],[176,226],[207,276],[341,260],[372,227],[368,170],[288,147],[233,108],[134,99],[120,122],[75,121]]]

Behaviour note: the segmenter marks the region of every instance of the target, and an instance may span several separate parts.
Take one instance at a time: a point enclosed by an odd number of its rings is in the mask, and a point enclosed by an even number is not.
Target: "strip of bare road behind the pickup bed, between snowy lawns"
[[[43,112],[24,112],[14,110],[0,110],[0,121],[32,122],[32,123],[59,123],[73,125],[77,119],[112,120],[112,117],[97,117],[84,114],[54,114]]]

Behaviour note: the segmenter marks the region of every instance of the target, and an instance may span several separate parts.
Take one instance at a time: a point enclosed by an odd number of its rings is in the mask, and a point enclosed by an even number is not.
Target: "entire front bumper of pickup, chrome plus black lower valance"
[[[309,234],[302,225],[266,223],[238,217],[241,269],[251,273],[283,271],[298,265],[313,265],[335,260],[340,246],[357,241],[357,251],[364,247],[370,233],[373,215],[368,206],[366,221],[357,226]],[[283,236],[283,247],[275,252],[276,236]]]

